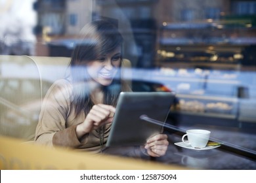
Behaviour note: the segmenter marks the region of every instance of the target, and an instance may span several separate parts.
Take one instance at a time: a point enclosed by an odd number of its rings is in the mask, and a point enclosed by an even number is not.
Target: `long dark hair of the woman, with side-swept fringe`
[[[86,69],[79,63],[96,60],[98,56],[113,52],[122,45],[123,38],[116,25],[106,20],[95,20],[83,27],[80,33],[79,44],[75,46],[70,61],[70,75],[73,84],[72,105],[75,113],[79,114],[83,110],[88,114],[93,106],[90,98],[90,89],[87,79],[89,78]],[[122,62],[122,58],[121,58]],[[121,67],[121,65],[120,65]],[[116,106],[119,93],[121,92],[121,73],[118,69],[117,75],[110,86],[102,86],[104,92],[104,104]]]

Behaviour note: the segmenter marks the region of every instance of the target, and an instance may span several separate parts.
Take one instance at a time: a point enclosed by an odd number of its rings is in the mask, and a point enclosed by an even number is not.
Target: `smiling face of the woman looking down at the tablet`
[[[87,63],[87,72],[98,84],[108,86],[112,83],[121,65],[121,46],[109,54],[99,56]]]

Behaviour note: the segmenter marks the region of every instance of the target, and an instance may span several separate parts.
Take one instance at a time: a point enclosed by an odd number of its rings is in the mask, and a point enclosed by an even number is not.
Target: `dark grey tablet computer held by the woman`
[[[165,122],[175,94],[172,92],[121,92],[106,146],[137,146],[161,133],[163,125],[142,120],[147,116]]]

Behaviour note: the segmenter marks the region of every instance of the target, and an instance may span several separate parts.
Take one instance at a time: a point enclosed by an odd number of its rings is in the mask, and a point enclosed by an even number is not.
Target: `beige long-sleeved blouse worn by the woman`
[[[122,91],[131,91],[123,82]],[[35,143],[47,146],[64,146],[100,152],[100,136],[93,130],[80,141],[77,139],[75,128],[85,120],[85,114],[81,112],[75,115],[72,101],[72,84],[68,80],[57,80],[49,88],[39,115],[39,124],[35,131]],[[111,124],[106,124],[104,144],[108,139]]]

